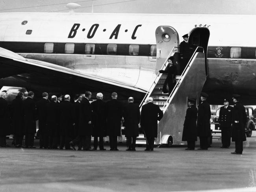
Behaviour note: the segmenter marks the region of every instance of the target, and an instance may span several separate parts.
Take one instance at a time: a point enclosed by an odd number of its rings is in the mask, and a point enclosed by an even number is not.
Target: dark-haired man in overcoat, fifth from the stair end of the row
[[[91,151],[91,135],[92,135],[92,110],[89,102],[91,98],[91,92],[86,91],[85,97],[80,103],[80,117],[79,117],[79,130],[78,135],[80,137],[79,144],[83,145],[84,151]],[[79,146],[81,148],[81,146]]]

